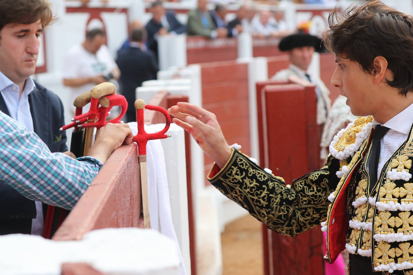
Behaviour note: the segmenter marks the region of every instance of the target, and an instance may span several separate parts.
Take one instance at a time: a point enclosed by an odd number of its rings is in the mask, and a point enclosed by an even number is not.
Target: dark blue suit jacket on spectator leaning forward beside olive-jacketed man
[[[183,25],[173,12],[168,11],[165,14],[166,20],[169,24],[168,32],[175,32],[176,34],[186,33],[186,26]],[[158,58],[158,41],[154,39],[154,35],[162,28],[161,24],[158,24],[153,20],[153,18],[146,24],[145,26],[148,38],[147,38],[147,46],[148,48],[155,54],[156,58]]]

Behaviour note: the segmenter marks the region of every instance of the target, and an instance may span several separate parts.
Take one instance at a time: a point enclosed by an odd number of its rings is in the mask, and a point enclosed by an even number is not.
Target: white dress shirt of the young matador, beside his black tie
[[[379,125],[373,120],[372,125],[375,128]],[[393,153],[407,139],[410,128],[413,124],[413,104],[395,115],[382,126],[389,128],[389,131],[380,141],[380,156],[377,165],[377,179],[379,179],[384,164],[389,160]],[[368,170],[368,163],[367,163]]]

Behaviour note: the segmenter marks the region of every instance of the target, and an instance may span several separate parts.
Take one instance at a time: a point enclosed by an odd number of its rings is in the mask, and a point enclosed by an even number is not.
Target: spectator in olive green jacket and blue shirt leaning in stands
[[[188,13],[188,35],[202,35],[206,38],[225,38],[226,28],[215,28],[208,12],[208,0],[198,0],[198,8]]]

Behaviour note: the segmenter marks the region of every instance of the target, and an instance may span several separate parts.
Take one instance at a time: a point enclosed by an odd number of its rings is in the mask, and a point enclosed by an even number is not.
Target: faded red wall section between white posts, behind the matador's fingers
[[[246,63],[202,63],[202,105],[216,115],[228,144],[242,145],[250,153],[248,67]],[[205,179],[213,161],[205,155]],[[209,182],[206,181],[206,185]]]

